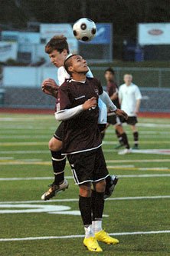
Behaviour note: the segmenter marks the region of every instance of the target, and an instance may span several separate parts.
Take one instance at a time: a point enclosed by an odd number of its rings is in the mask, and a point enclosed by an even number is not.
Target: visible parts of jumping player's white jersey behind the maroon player
[[[57,77],[58,77],[59,85],[62,85],[64,83],[65,79],[70,78],[70,75],[67,73],[64,66],[62,66],[62,67],[58,68],[58,70],[57,70]],[[93,74],[90,71],[90,68],[89,68],[89,71],[87,72],[87,77],[88,78],[93,78]],[[100,108],[98,123],[99,124],[106,124],[107,108],[106,108],[106,105],[104,104],[104,102],[100,100],[100,98],[99,98],[99,101],[98,101],[98,106]]]

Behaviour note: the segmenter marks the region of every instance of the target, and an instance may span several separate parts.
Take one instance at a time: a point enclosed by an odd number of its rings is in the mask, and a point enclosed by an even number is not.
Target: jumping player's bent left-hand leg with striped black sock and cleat
[[[59,125],[55,131],[54,137],[49,141],[49,149],[51,151],[51,161],[54,172],[54,182],[49,185],[49,189],[41,196],[42,200],[53,198],[59,191],[68,188],[68,182],[64,179],[64,168],[66,165],[66,156],[61,155],[63,123]]]

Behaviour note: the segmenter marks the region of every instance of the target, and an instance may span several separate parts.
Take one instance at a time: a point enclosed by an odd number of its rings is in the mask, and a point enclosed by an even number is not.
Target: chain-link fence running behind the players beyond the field
[[[41,67],[40,67],[41,68]],[[48,71],[50,70],[49,67]],[[133,76],[133,82],[139,86],[142,92],[141,111],[170,111],[170,68],[118,68],[113,67],[116,71],[116,82],[118,85],[123,84],[123,75],[130,73]],[[106,86],[104,79],[104,71],[106,67],[90,67],[93,75],[100,79],[103,88]],[[49,95],[45,95],[41,91],[41,81],[47,76],[48,71],[45,67],[41,70],[41,78],[35,76],[35,85],[29,86],[31,81],[28,80],[28,85],[24,86],[9,86],[1,85],[0,90],[0,106],[2,108],[44,108],[54,109],[55,99]],[[54,75],[56,75],[56,70]],[[12,71],[15,75],[15,69]],[[44,74],[44,75],[43,75]],[[24,74],[25,75],[25,74]],[[2,91],[2,92],[1,92]]]

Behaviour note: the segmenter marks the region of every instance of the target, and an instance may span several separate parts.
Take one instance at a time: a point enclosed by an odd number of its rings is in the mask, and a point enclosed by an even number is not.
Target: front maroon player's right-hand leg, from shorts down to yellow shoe
[[[109,234],[103,231],[102,218],[104,209],[104,192],[106,188],[106,177],[108,171],[101,148],[96,150],[96,161],[93,171],[93,191],[91,195],[92,200],[92,215],[93,215],[93,231],[98,241],[103,241],[106,244],[117,244],[119,241],[111,238]]]

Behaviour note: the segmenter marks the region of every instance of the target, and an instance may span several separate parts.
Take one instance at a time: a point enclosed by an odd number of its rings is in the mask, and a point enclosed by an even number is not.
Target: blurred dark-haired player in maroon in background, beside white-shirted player
[[[119,98],[118,98],[118,86],[115,82],[115,72],[113,71],[113,68],[107,68],[104,72],[104,76],[106,79],[106,91],[108,95],[110,96],[110,99],[113,101],[114,105],[116,105],[117,108],[120,108],[119,105]],[[115,115],[112,111],[108,110],[107,113],[107,123],[109,125],[114,125],[116,136],[119,139],[119,145],[116,146],[116,148],[120,148],[122,146],[125,146],[125,148],[129,149],[129,142],[126,135],[126,132],[123,130],[123,126],[121,124],[120,118],[118,115]],[[104,134],[104,131],[103,131]]]

